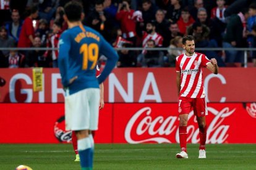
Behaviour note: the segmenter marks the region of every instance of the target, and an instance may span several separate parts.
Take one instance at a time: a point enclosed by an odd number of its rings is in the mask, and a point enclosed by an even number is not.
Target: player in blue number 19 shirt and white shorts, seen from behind
[[[64,12],[69,29],[62,33],[59,40],[58,65],[66,90],[66,130],[75,131],[77,136],[81,169],[92,169],[94,141],[89,131],[98,129],[99,84],[116,66],[118,56],[103,36],[82,25],[83,7],[79,2],[68,2]],[[95,67],[99,54],[105,55],[108,60],[97,79]]]

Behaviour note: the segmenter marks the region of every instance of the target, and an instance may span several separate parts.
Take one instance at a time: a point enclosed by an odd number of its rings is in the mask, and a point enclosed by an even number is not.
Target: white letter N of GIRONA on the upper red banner
[[[122,99],[124,99],[124,102],[134,102],[134,73],[128,73],[127,78],[127,93],[124,91],[124,88],[122,87],[119,80],[116,78],[114,73],[111,73],[109,75],[108,79],[108,94],[109,94],[109,102],[114,102],[114,87],[116,87],[119,94],[122,96]]]

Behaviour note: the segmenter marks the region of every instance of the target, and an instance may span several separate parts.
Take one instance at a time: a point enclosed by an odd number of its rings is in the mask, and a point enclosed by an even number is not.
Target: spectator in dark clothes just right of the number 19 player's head
[[[110,15],[103,11],[103,1],[95,3],[95,8],[85,17],[84,24],[100,32],[104,38],[109,41],[111,38],[111,25],[109,25]]]

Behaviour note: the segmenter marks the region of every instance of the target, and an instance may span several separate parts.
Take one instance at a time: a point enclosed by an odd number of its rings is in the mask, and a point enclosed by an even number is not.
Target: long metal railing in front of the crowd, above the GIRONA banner
[[[143,48],[143,47],[126,47],[126,48],[115,48],[116,51],[121,51],[123,49],[127,49],[130,51],[169,51],[169,50],[181,50],[181,48],[169,48],[169,47],[155,47],[155,48]],[[52,51],[58,50],[58,48],[48,48],[48,47],[27,47],[27,48],[17,48],[17,47],[0,47],[0,51]],[[247,68],[248,60],[247,60],[247,52],[256,51],[256,48],[196,48],[195,51],[244,51],[244,67]]]

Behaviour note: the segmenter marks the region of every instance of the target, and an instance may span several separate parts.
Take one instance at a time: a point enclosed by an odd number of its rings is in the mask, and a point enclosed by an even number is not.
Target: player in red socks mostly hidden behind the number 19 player
[[[96,66],[96,78],[98,78],[98,76],[100,76],[100,68],[97,65]],[[101,83],[100,84],[100,110],[103,107],[104,107],[104,86],[103,86],[103,83]],[[91,131],[91,134],[94,138],[95,131]],[[77,150],[77,136],[75,135],[75,131],[72,131],[72,145],[73,145],[74,152],[75,152],[75,162],[79,162],[80,157],[79,157],[79,153],[78,153],[78,150]]]

